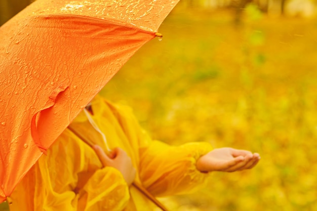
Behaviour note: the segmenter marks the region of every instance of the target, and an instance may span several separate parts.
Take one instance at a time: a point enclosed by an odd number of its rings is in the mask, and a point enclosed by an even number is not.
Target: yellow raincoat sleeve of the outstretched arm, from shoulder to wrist
[[[132,109],[110,104],[130,144],[138,150],[138,173],[143,186],[155,196],[184,194],[204,185],[209,174],[196,169],[199,157],[212,150],[209,143],[188,143],[170,146],[152,141],[141,128]]]

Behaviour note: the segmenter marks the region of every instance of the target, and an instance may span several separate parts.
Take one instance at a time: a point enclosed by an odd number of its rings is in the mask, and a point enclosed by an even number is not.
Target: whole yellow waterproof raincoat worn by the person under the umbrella
[[[195,163],[211,150],[208,143],[176,147],[150,140],[129,107],[99,96],[92,101],[92,109],[109,147],[127,152],[137,170],[136,181],[154,196],[188,193],[204,184],[208,174],[197,171]],[[106,150],[84,112],[72,124]],[[152,210],[154,206],[134,186],[128,187],[118,170],[102,167],[94,150],[66,129],[16,187],[10,210],[77,210],[84,193],[87,211]]]

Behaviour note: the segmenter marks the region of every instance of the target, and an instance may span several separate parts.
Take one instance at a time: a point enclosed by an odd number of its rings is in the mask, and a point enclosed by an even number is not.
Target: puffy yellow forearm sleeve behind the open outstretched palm
[[[209,143],[187,143],[170,146],[152,141],[140,150],[140,178],[155,196],[185,194],[204,185],[208,174],[196,168],[199,157],[211,151]]]

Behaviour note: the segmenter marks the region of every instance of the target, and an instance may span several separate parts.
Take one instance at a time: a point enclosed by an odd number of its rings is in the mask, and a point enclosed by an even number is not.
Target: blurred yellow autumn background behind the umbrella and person
[[[0,0],[1,23],[28,1]],[[182,0],[101,94],[157,140],[259,152],[171,210],[317,210],[315,0]],[[8,210],[6,203],[0,210]]]

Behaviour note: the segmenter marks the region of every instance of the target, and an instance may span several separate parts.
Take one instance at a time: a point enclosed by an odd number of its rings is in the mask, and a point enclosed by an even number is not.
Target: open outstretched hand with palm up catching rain
[[[258,153],[224,147],[214,149],[200,157],[196,167],[201,172],[235,172],[253,168],[259,160]]]

